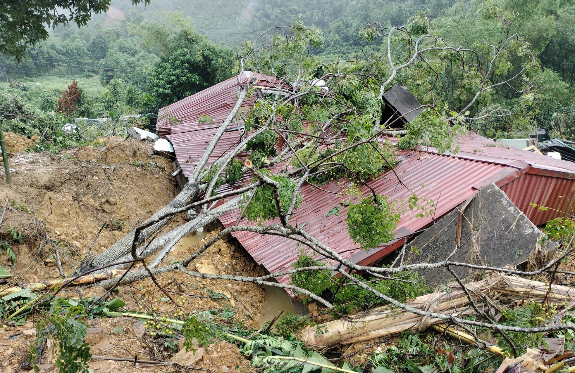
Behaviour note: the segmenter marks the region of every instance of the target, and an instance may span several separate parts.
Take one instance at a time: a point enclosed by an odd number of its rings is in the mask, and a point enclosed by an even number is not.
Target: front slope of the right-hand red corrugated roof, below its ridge
[[[424,199],[434,201],[435,214],[416,217],[417,211],[409,209],[402,213],[396,235],[396,238],[400,238],[401,232],[417,232],[432,223],[434,217],[439,218],[451,211],[477,193],[473,185],[505,168],[503,165],[417,152],[404,157],[395,169],[402,184],[398,182],[393,172],[386,172],[377,180],[371,181],[370,187],[387,196],[389,201],[396,201],[398,209],[402,208],[402,201],[407,203],[407,199],[413,193],[419,196],[420,201]],[[337,194],[341,190],[340,185],[334,181],[321,188],[328,192],[315,189],[309,184],[302,187],[301,193],[304,199],[301,207],[294,213],[292,223],[297,223],[298,226],[307,223],[305,231],[343,257],[350,258],[359,251],[359,248],[347,233],[345,220],[347,207],[343,207],[339,216],[327,216],[329,211],[340,205],[340,196]],[[364,192],[367,192],[367,188]],[[222,216],[220,221],[224,226],[235,224],[237,212]],[[240,224],[249,223],[244,219]],[[291,263],[297,259],[298,250],[305,249],[301,245],[297,247],[297,243],[293,240],[277,236],[262,236],[250,232],[236,232],[234,235],[255,261],[264,265],[270,273],[289,269]],[[382,248],[385,246],[381,245]],[[282,282],[288,280],[287,277],[279,278]]]

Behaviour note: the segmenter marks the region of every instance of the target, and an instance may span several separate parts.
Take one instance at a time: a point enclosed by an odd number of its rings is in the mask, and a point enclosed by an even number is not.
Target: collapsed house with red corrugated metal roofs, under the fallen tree
[[[256,81],[255,94],[244,101],[243,107],[251,106],[257,96],[266,94],[266,88],[282,87],[282,82],[275,77],[246,74],[160,109],[156,129],[160,137],[167,138],[174,147],[177,158],[175,173],[181,185],[187,181],[186,176],[191,175],[217,128],[235,106],[239,79],[243,83],[248,79]],[[400,96],[405,97],[406,92],[399,85],[392,88],[385,97],[386,110],[393,115],[416,110],[411,99],[413,96],[409,97],[407,104],[400,104]],[[209,121],[205,120],[206,115]],[[208,165],[239,143],[243,128],[243,121],[238,116],[236,123],[218,142]],[[292,221],[299,226],[306,223],[305,230],[310,235],[342,257],[360,265],[374,265],[489,184],[500,188],[535,226],[565,216],[562,211],[570,211],[569,201],[575,197],[575,164],[572,162],[517,149],[474,133],[459,137],[458,145],[457,154],[442,154],[433,147],[401,151],[398,154],[401,161],[393,171],[382,173],[368,182],[369,188],[388,199],[406,201],[415,193],[420,201],[427,201],[434,208],[434,213],[423,217],[417,217],[418,212],[409,209],[402,213],[395,239],[391,242],[382,243],[370,251],[361,250],[352,242],[345,220],[347,207],[340,203],[337,193],[341,185],[337,181],[322,185],[321,189],[304,184],[301,188],[303,201],[294,211]],[[241,154],[239,158],[246,157],[247,154]],[[278,172],[284,167],[274,165],[270,171]],[[363,192],[368,190],[363,188]],[[549,209],[539,209],[532,204]],[[334,207],[338,207],[338,213],[333,213]],[[229,227],[236,224],[238,218],[238,212],[234,211],[219,220],[223,226]],[[250,223],[246,219],[241,224]],[[235,232],[233,236],[270,273],[289,269],[298,258],[298,248],[293,240],[251,232]],[[287,283],[289,276],[279,277],[278,281]]]

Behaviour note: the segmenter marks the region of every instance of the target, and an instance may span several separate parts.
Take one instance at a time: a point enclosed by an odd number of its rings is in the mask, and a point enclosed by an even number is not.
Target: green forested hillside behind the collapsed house
[[[158,108],[231,77],[241,43],[275,26],[301,22],[319,29],[321,43],[309,48],[319,63],[385,56],[384,33],[375,31],[425,24],[422,31],[446,44],[477,52],[476,68],[481,70],[492,53],[489,45],[500,45],[503,40],[502,19],[517,36],[515,44],[508,45],[503,62],[490,72],[490,79],[519,73],[517,81],[523,83],[484,92],[470,107],[471,116],[503,111],[512,115],[486,118],[472,129],[501,137],[538,126],[572,137],[573,1],[240,0],[206,5],[178,0],[144,6],[116,0],[107,14],[94,14],[86,27],[51,30],[49,39],[34,46],[20,63],[15,57],[1,56],[0,76],[5,83],[0,87],[2,100],[16,97],[27,105],[26,110],[35,112],[33,123],[12,125],[13,130],[28,135],[43,130],[47,123],[74,118],[141,114],[153,124]],[[428,72],[398,76],[395,81],[403,81],[422,103],[443,102],[453,110],[465,107],[478,81],[459,73],[454,61],[428,62]],[[522,70],[531,62],[535,65]],[[436,74],[433,79],[430,71]],[[74,110],[60,117],[57,100],[72,80],[78,81],[80,94]]]

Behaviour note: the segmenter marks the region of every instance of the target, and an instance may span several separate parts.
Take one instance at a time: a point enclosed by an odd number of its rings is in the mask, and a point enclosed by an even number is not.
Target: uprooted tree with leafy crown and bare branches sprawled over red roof
[[[545,274],[553,271],[559,261],[573,250],[570,243],[561,256],[533,271],[453,262],[450,259],[453,252],[458,250],[457,246],[443,261],[436,263],[405,265],[400,261],[392,267],[365,266],[344,258],[333,247],[310,235],[304,223],[297,224],[291,219],[306,197],[300,192],[303,185],[321,188],[323,183],[331,180],[341,181],[342,203],[350,206],[348,211],[354,211],[347,215],[348,234],[365,250],[395,238],[398,216],[407,203],[410,208],[422,211],[427,209],[426,213],[432,213],[433,205],[425,205],[424,201],[428,199],[423,195],[416,196],[414,193],[411,199],[397,201],[396,204],[388,201],[385,196],[377,195],[367,181],[379,177],[383,172],[394,172],[394,165],[398,161],[397,150],[414,150],[425,143],[438,149],[439,153],[455,152],[455,135],[465,131],[465,126],[474,120],[484,120],[489,116],[489,111],[482,111],[484,108],[478,103],[478,98],[485,92],[501,86],[516,85],[514,89],[517,99],[520,99],[523,93],[534,88],[531,76],[527,74],[529,69],[536,67],[534,56],[528,52],[528,45],[513,29],[512,22],[501,18],[501,26],[503,32],[499,46],[490,45],[490,54],[482,56],[471,49],[448,45],[432,35],[411,34],[409,28],[375,30],[377,38],[386,41],[384,54],[375,53],[358,60],[337,63],[321,63],[308,53],[310,47],[319,45],[319,34],[302,25],[270,30],[272,37],[267,45],[259,39],[255,44],[244,45],[245,48],[239,54],[239,88],[235,105],[223,123],[214,125],[217,127],[214,136],[200,160],[194,164],[193,173],[183,191],[170,204],[136,226],[107,250],[95,257],[85,258],[81,272],[98,271],[97,268],[102,268],[104,272],[110,268],[129,266],[131,270],[119,278],[98,283],[110,289],[144,278],[155,280],[157,275],[171,271],[181,271],[196,278],[283,287],[319,302],[329,310],[336,308],[331,298],[324,297],[325,287],[318,286],[310,290],[309,284],[278,283],[274,278],[301,273],[316,278],[321,274],[335,273],[338,277],[328,278],[328,281],[339,282],[336,292],[343,286],[356,286],[395,308],[384,311],[392,315],[385,320],[379,315],[371,316],[370,323],[373,321],[373,325],[370,325],[370,331],[384,333],[382,335],[388,333],[389,329],[397,332],[403,327],[394,324],[393,316],[401,316],[402,324],[417,328],[439,320],[455,325],[492,328],[503,335],[509,331],[532,333],[574,329],[573,325],[564,324],[538,328],[501,325],[493,312],[497,309],[496,302],[480,296],[482,292],[488,291],[489,282],[468,290],[456,276],[459,290],[455,289],[448,300],[442,298],[442,293],[436,292],[413,302],[400,302],[374,286],[378,281],[402,281],[401,276],[394,275],[423,268],[445,267],[450,270],[451,267],[462,266],[526,277]],[[517,45],[522,45],[520,53],[517,52]],[[495,73],[500,63],[508,64],[508,59],[515,57],[522,64],[512,76],[501,78]],[[400,142],[391,142],[388,136],[397,133],[389,131],[394,131],[400,125],[402,116],[384,117],[381,95],[390,84],[398,83],[402,76],[432,75],[436,72],[436,66],[448,64],[453,68],[453,61],[459,61],[460,68],[465,72],[460,77],[460,84],[464,85],[467,78],[474,77],[477,86],[473,87],[473,94],[463,100],[465,103],[458,108],[432,104],[417,108],[424,109],[419,118],[407,126],[407,132]],[[275,87],[267,87],[260,94],[258,75],[248,74],[250,78],[244,80],[247,71],[272,73],[281,77],[280,83]],[[429,94],[433,95],[433,92]],[[244,103],[248,103],[247,106]],[[475,116],[470,114],[471,110]],[[498,111],[497,117],[501,115]],[[505,115],[512,116],[513,112]],[[237,126],[234,129],[241,131],[238,141],[223,154],[216,153],[223,134],[231,130],[233,122],[239,122],[240,119],[244,128]],[[280,140],[284,146],[277,150]],[[214,161],[214,158],[217,159]],[[276,167],[270,171],[272,166]],[[231,174],[236,174],[235,179]],[[244,174],[247,176],[244,177]],[[228,179],[228,176],[230,188],[221,188],[224,177]],[[394,176],[397,177],[398,185],[403,183],[400,176]],[[240,182],[242,180],[243,184]],[[236,224],[221,230],[208,242],[190,252],[183,261],[163,264],[166,254],[182,236],[205,227],[229,211],[237,212]],[[159,233],[174,216],[186,212],[192,215],[189,222],[169,232]],[[243,220],[244,217],[247,217],[247,222]],[[293,241],[294,250],[297,246],[305,247],[312,253],[311,257],[321,258],[321,261],[299,268],[286,267],[260,277],[202,273],[193,269],[191,265],[199,255],[232,232],[281,236]],[[150,261],[154,254],[155,258]],[[134,262],[141,263],[141,267],[134,269]],[[366,281],[358,273],[371,279]],[[457,295],[455,306],[454,295]],[[460,310],[459,306],[465,307],[465,310]],[[477,314],[482,321],[464,318],[470,313]],[[333,341],[340,338],[339,335],[344,336],[347,329],[346,326],[335,325],[330,335]],[[347,339],[352,340],[349,337]],[[508,343],[514,350],[512,342]]]

